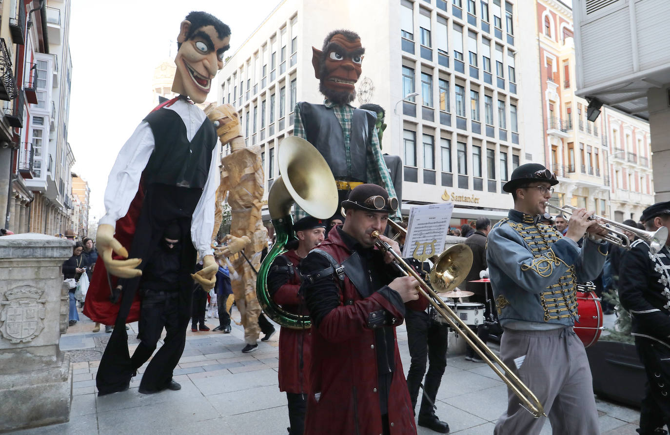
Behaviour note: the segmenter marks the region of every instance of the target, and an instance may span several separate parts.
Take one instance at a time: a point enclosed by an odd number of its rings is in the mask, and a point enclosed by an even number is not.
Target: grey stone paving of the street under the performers
[[[82,320],[71,326],[60,341],[61,349],[70,351],[72,361],[77,361],[73,363],[70,422],[17,433],[287,433],[286,396],[277,387],[279,333],[267,343],[259,341],[257,351],[243,354],[242,326],[233,324],[230,334],[191,332],[189,328],[186,349],[174,373],[176,381],[182,384],[180,391],[140,394],[138,376],[129,391],[97,397],[95,373],[109,334],[105,334],[104,326],[103,332],[90,332],[92,322],[80,316]],[[239,318],[236,311],[233,318]],[[209,318],[207,324],[213,328],[218,320]],[[399,327],[397,333],[406,373],[409,352],[405,327]],[[137,324],[131,324],[131,353],[137,345],[136,334]],[[447,364],[436,402],[438,416],[449,423],[452,434],[492,434],[498,416],[505,410],[507,387],[483,363],[450,355]],[[636,434],[638,410],[600,400],[597,406],[602,434]],[[419,428],[419,434],[435,432]],[[551,434],[548,421],[542,434]]]

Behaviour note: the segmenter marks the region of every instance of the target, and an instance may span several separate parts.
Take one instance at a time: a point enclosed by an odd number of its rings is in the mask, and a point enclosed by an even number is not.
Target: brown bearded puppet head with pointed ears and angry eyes
[[[330,32],[322,50],[312,47],[314,76],[320,80],[319,90],[328,100],[338,105],[354,101],[354,84],[360,77],[364,52],[360,36],[349,30]]]

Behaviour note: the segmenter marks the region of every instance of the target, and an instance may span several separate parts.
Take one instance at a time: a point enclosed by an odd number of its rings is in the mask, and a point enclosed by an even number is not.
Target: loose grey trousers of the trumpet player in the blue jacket
[[[543,404],[554,435],[600,434],[586,351],[572,328],[505,329],[500,357]],[[539,434],[546,417],[533,418],[509,389],[507,397],[507,412],[498,418],[493,433]]]

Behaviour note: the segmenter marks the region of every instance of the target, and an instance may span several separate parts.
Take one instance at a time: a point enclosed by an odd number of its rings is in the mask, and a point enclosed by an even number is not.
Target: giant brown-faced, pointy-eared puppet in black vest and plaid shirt
[[[349,30],[330,32],[321,50],[312,47],[312,66],[324,104],[304,101],[295,105],[293,134],[312,143],[328,162],[337,181],[340,202],[363,183],[378,184],[395,197],[393,182],[381,155],[377,115],[354,109],[354,84],[361,73],[365,49]],[[297,210],[297,206],[296,206]],[[297,217],[303,217],[297,210]],[[400,212],[395,214],[400,219]]]

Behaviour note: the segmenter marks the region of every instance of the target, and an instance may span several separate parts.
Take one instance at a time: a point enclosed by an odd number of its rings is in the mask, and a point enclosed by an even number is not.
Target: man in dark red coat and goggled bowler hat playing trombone
[[[416,434],[395,326],[405,302],[425,310],[413,277],[398,277],[393,256],[375,249],[396,198],[361,184],[342,202],[344,225],[302,260],[312,318],[306,434]],[[396,251],[398,244],[379,238]]]

